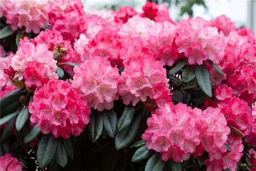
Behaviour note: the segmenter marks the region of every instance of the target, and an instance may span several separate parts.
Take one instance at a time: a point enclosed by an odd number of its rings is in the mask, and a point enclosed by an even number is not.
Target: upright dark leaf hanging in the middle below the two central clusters
[[[117,134],[116,125],[117,125],[117,117],[116,113],[113,110],[105,111],[102,114],[103,117],[103,127],[106,134],[108,134],[111,138],[114,138]]]

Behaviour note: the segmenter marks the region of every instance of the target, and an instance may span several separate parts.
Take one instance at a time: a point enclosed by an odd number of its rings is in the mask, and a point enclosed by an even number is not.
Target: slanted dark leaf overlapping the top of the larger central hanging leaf
[[[118,131],[124,130],[127,126],[129,126],[133,120],[135,114],[135,106],[126,105],[122,116],[119,118],[117,122]]]

